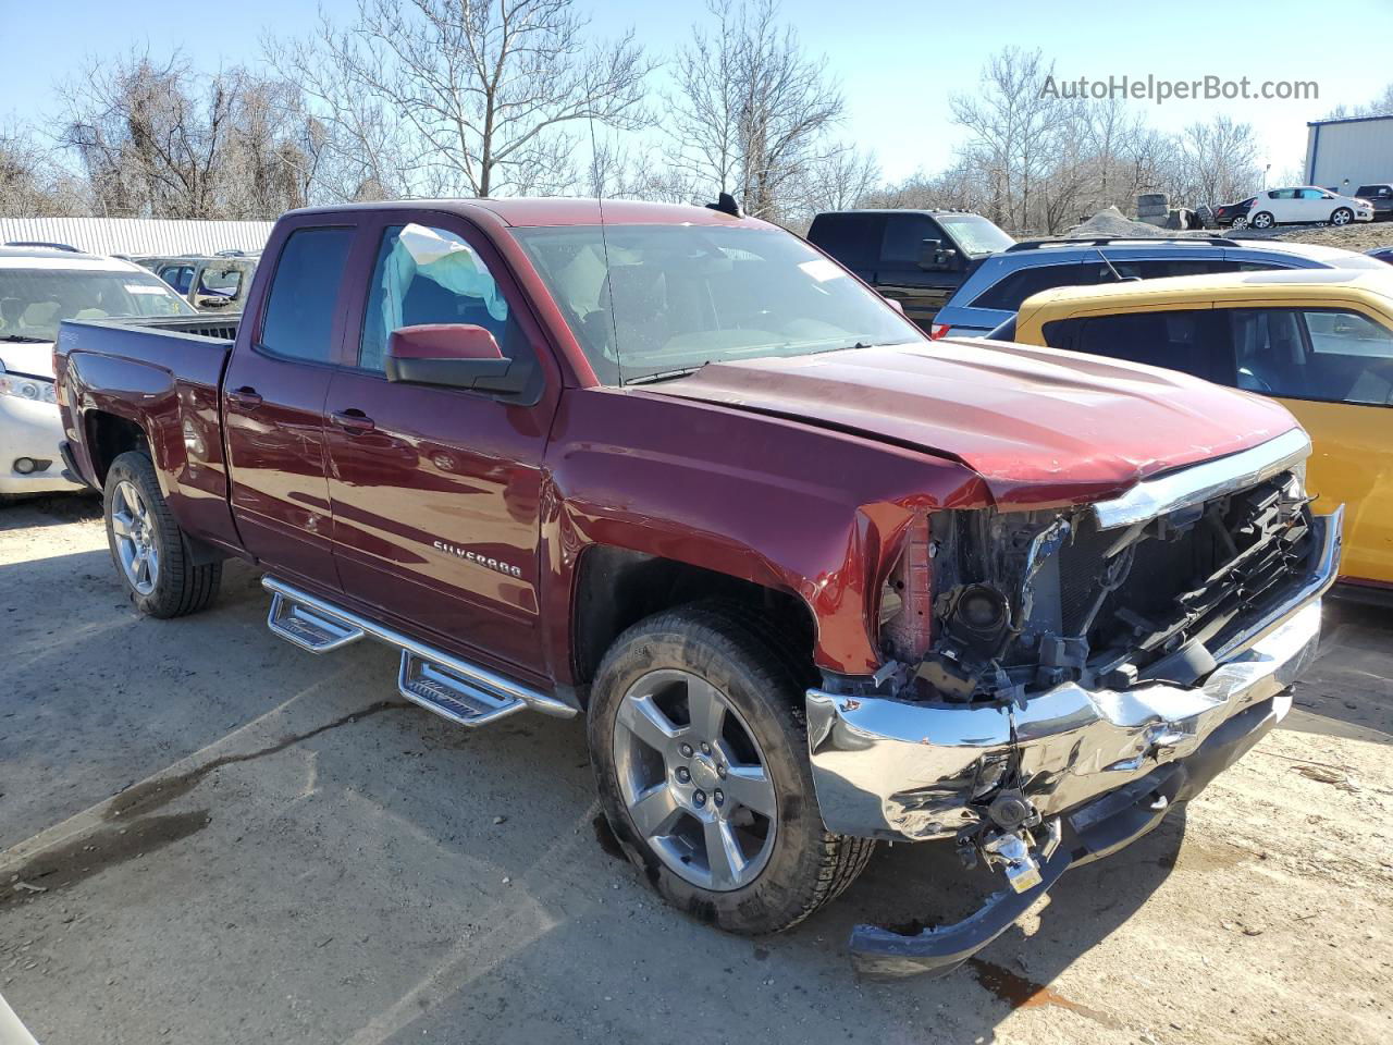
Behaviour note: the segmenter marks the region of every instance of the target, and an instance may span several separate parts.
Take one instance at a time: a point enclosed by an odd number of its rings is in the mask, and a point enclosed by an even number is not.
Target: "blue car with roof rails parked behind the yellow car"
[[[1027,240],[985,258],[933,316],[931,337],[982,337],[1031,294],[1114,280],[1262,269],[1368,269],[1380,262],[1339,247],[1275,240]]]

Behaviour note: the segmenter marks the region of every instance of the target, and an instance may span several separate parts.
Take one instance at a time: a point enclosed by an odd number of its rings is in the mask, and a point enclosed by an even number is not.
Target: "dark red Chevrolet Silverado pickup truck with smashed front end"
[[[729,203],[298,210],[265,259],[226,340],[63,325],[65,458],[135,605],[201,610],[240,557],[274,634],[384,642],[461,726],[584,716],[624,851],[723,929],[937,840],[1002,888],[851,950],[947,971],[1315,653],[1340,518],[1275,403],[931,343]]]

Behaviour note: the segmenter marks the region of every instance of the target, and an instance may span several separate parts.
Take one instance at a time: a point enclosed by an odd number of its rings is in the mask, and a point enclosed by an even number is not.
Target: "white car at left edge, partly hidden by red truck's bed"
[[[64,319],[196,316],[160,279],[70,248],[0,247],[0,499],[84,489],[64,477],[53,341]]]

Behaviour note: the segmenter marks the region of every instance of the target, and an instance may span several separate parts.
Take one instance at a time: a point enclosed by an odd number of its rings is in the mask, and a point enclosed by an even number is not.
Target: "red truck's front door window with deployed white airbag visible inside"
[[[368,288],[358,365],[380,371],[393,330],[430,323],[482,326],[510,359],[532,357],[517,316],[472,247],[443,229],[387,229]]]

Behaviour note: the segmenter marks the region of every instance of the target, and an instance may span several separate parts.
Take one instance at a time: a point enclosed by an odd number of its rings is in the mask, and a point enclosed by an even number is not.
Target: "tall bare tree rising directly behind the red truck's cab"
[[[323,18],[313,39],[266,52],[304,85],[340,166],[365,146],[357,181],[401,195],[546,192],[575,176],[571,128],[646,118],[652,65],[632,32],[592,43],[586,25],[571,0],[359,0],[352,25]]]

